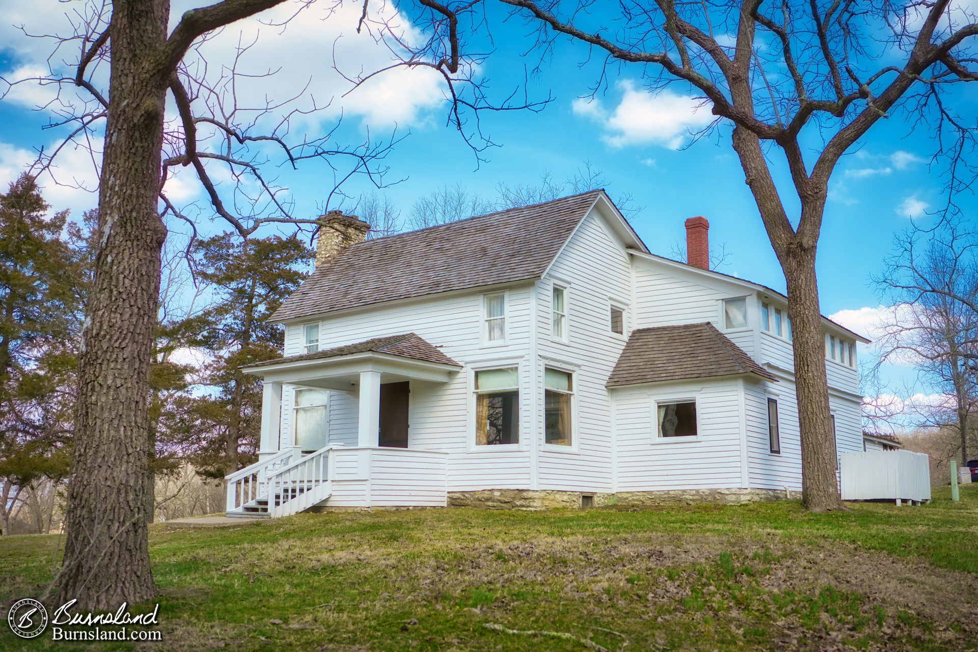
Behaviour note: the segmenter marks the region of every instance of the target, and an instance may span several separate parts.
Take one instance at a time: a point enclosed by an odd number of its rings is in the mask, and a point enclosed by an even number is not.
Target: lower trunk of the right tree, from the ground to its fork
[[[828,408],[825,333],[815,276],[815,247],[788,247],[781,257],[794,337],[795,394],[801,428],[802,503],[812,511],[845,509],[839,496],[835,433]]]

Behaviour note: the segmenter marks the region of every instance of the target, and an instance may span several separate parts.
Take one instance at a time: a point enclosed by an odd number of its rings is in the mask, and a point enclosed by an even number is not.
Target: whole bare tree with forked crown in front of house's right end
[[[511,9],[509,22],[494,23],[489,6],[495,2]],[[802,500],[814,511],[844,509],[815,273],[828,182],[841,157],[880,119],[902,114],[933,133],[938,155],[951,161],[950,193],[970,184],[974,168],[964,154],[974,149],[974,129],[951,102],[959,97],[959,82],[978,79],[973,13],[951,0],[398,4],[429,34],[401,65],[427,65],[443,75],[454,100],[449,119],[468,142],[482,137],[473,117],[488,107],[485,84],[473,78],[471,62],[481,62],[492,35],[512,31],[519,18],[531,38],[535,34],[543,59],[553,55],[560,38],[603,57],[596,92],[620,68],[642,75],[652,93],[679,82],[701,94],[700,102],[716,116],[714,126],[730,136],[787,285]],[[778,187],[775,172],[781,169],[790,185]],[[790,207],[794,202],[797,210]]]

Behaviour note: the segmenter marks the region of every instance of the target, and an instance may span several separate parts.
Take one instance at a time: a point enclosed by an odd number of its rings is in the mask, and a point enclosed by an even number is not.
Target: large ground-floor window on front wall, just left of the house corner
[[[475,444],[519,443],[517,368],[475,372]]]

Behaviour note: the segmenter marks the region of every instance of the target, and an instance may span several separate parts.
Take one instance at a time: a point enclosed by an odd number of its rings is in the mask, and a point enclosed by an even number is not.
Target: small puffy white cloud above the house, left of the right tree
[[[618,82],[621,102],[613,110],[600,100],[575,100],[574,113],[599,122],[604,130],[601,140],[614,148],[653,144],[671,150],[689,142],[696,132],[714,120],[709,107],[688,95],[677,95],[668,89],[651,95],[636,89],[631,80]]]

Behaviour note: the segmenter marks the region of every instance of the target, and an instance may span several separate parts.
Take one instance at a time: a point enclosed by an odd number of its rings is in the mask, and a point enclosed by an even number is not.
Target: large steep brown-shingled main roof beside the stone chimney
[[[601,197],[613,206],[597,190],[358,242],[317,268],[269,321],[538,279]],[[645,248],[622,222],[630,245]]]

